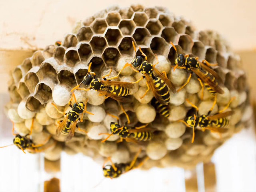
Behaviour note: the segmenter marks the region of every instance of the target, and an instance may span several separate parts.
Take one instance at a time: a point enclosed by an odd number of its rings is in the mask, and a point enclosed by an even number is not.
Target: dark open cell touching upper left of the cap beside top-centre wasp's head
[[[120,57],[120,53],[118,49],[108,47],[104,50],[104,53],[102,55],[102,59],[105,61],[106,65],[108,66],[114,66],[116,65],[117,60]]]

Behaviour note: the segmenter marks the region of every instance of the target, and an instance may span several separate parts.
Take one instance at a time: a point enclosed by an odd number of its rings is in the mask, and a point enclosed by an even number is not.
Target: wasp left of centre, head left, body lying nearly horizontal
[[[120,101],[120,102],[130,102],[129,98],[125,98],[124,96],[127,96],[130,94],[130,89],[134,87],[134,84],[129,82],[119,82],[119,81],[109,81],[106,79],[106,76],[109,76],[112,69],[110,68],[110,72],[102,76],[103,80],[100,78],[95,78],[96,74],[94,72],[90,72],[92,63],[89,64],[88,67],[88,73],[86,76],[84,76],[84,79],[80,84],[75,86],[71,91],[75,89],[81,89],[88,91],[90,89],[94,89],[98,92],[100,92],[100,95],[105,95],[105,98],[112,98],[114,100]],[[79,88],[81,84],[84,84],[85,86],[90,85],[90,88],[84,89]]]

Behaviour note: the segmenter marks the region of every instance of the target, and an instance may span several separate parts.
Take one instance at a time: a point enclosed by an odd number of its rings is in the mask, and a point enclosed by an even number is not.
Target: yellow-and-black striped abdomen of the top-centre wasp
[[[159,77],[154,77],[153,82],[158,94],[160,94],[160,96],[163,98],[164,102],[167,105],[170,101],[170,93],[169,93],[168,86]]]

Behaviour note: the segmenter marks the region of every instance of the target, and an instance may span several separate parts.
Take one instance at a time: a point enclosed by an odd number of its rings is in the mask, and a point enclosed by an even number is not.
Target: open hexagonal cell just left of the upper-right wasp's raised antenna
[[[154,54],[164,55],[169,48],[169,44],[162,37],[154,37],[151,41],[150,48]]]

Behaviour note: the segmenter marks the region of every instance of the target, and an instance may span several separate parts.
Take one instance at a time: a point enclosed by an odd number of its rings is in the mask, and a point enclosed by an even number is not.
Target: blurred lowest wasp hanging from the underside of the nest
[[[146,157],[144,158],[143,160],[141,160],[139,162],[139,164],[137,166],[135,166],[135,163],[137,161],[137,158],[139,156],[141,152],[141,148],[140,150],[136,153],[136,155],[134,156],[134,159],[132,160],[132,162],[130,162],[130,164],[126,164],[126,163],[120,163],[120,164],[117,164],[117,163],[113,163],[112,160],[108,157],[107,160],[104,162],[104,164],[108,161],[111,162],[111,165],[106,165],[102,166],[102,169],[103,169],[103,175],[104,177],[107,177],[107,178],[118,178],[120,175],[132,170],[132,169],[136,169],[136,168],[139,168],[140,166],[142,166],[144,164],[144,162],[146,162],[146,160],[148,160],[149,158]]]

